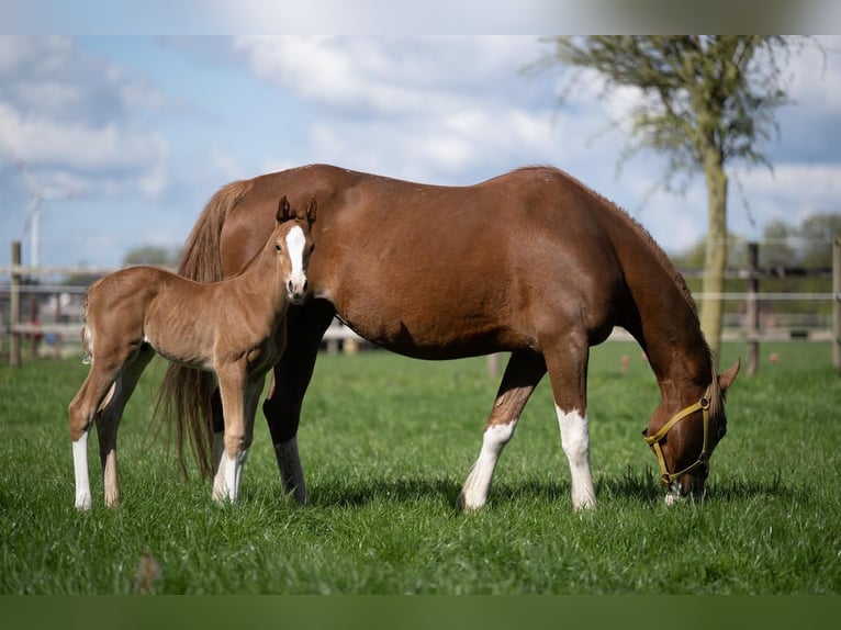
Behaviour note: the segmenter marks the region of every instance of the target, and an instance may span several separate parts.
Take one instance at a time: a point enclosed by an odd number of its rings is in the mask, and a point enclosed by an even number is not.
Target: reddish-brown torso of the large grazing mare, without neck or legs
[[[562,171],[532,167],[468,187],[322,165],[262,176],[223,228],[226,273],[265,241],[281,194],[318,202],[314,294],[386,348],[427,358],[538,349],[549,318],[609,333],[621,284],[604,228],[613,211]]]

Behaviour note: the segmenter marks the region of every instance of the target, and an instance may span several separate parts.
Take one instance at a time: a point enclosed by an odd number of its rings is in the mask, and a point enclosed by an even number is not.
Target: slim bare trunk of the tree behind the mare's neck
[[[724,323],[725,269],[727,267],[727,175],[718,149],[709,148],[704,156],[707,182],[707,215],[709,230],[704,259],[705,296],[700,306],[700,328],[718,362]]]

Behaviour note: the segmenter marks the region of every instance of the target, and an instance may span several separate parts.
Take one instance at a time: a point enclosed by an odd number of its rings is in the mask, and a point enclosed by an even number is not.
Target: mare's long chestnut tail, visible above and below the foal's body
[[[250,180],[235,181],[211,198],[187,238],[179,274],[197,282],[222,280],[222,226],[227,214],[243,201],[251,185]],[[162,412],[167,419],[175,421],[176,449],[182,470],[187,471],[183,447],[189,441],[199,470],[205,477],[213,473],[211,398],[214,389],[215,379],[211,372],[170,363],[155,405],[156,414]]]

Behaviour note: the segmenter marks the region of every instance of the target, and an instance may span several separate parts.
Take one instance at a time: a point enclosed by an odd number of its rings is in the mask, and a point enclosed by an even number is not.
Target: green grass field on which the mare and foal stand
[[[599,504],[585,514],[570,507],[548,381],[486,508],[455,509],[497,386],[483,359],[321,357],[299,437],[305,507],[281,495],[261,418],[239,505],[214,504],[194,473],[184,481],[150,423],[155,363],[123,419],[123,503],[102,506],[94,438],[88,514],[72,507],[66,413],[87,367],[2,365],[0,593],[839,593],[841,376],[828,346],[762,351],[780,360],[733,385],[707,497],[669,508],[640,437],[659,401],[654,378],[635,345],[594,349]],[[740,352],[727,346],[722,364]]]

